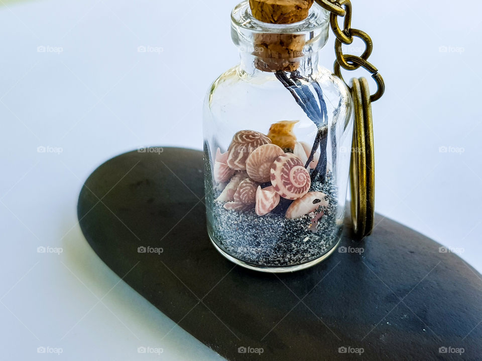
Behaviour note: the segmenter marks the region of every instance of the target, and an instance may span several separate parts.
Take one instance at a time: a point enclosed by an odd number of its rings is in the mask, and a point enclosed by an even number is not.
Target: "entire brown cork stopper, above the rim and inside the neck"
[[[250,0],[253,17],[270,24],[293,24],[305,20],[313,0]],[[266,72],[295,71],[303,56],[304,35],[263,33],[254,38],[255,67]]]

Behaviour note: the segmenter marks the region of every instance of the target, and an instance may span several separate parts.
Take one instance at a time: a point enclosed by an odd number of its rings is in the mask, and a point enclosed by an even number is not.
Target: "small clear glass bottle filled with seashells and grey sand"
[[[249,2],[231,14],[240,64],[211,85],[203,135],[207,230],[229,260],[290,272],[339,243],[352,140],[351,96],[318,61],[329,14],[275,25]]]

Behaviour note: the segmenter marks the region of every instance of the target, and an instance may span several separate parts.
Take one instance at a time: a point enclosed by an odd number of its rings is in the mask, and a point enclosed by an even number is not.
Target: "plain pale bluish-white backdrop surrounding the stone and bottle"
[[[97,258],[76,202],[83,180],[118,153],[201,149],[205,91],[238,59],[235,4],[0,0],[3,358],[57,359],[39,346],[61,347],[71,360],[219,358]],[[478,271],[481,12],[477,2],[353,0],[352,20],[372,36],[371,61],[387,84],[374,105],[377,212],[463,249]],[[139,355],[139,346],[164,353]]]

